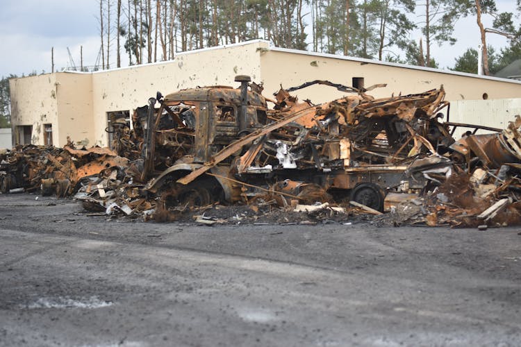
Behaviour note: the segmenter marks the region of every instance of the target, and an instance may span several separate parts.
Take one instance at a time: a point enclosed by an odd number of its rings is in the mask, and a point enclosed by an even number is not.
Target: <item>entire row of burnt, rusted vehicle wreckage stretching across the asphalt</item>
[[[237,89],[158,93],[135,110],[132,128],[115,114],[112,149],[75,149],[69,140],[63,149],[4,151],[1,192],[40,189],[146,220],[227,203],[366,212],[395,225],[521,222],[519,116],[504,130],[451,123],[443,86],[374,99],[367,92],[385,85],[312,81],[266,99],[248,76],[235,81]],[[347,96],[315,105],[290,94],[310,85]],[[456,141],[458,127],[468,131]]]

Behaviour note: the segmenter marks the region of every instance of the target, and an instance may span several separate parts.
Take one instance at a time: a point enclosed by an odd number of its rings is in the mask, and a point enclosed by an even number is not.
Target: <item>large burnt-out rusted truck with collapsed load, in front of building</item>
[[[167,208],[248,201],[277,191],[288,199],[332,196],[382,210],[388,192],[424,187],[424,176],[407,171],[411,162],[443,154],[454,142],[438,121],[447,106],[443,87],[374,99],[366,94],[370,88],[313,81],[281,87],[266,99],[248,76],[235,81],[240,88],[158,93],[135,111],[142,158],[134,178],[143,194],[159,196]],[[290,95],[313,84],[348,96],[315,105]]]

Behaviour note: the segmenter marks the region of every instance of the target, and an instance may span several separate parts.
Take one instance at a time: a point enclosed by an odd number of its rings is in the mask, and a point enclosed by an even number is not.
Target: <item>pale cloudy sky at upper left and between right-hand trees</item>
[[[514,10],[514,0],[496,0],[496,3],[501,11]],[[50,72],[52,46],[58,70],[69,65],[67,46],[77,66],[80,46],[83,46],[83,65],[94,65],[100,46],[98,13],[98,0],[0,0],[0,42],[4,47],[0,54],[0,76]],[[484,22],[491,26],[490,18]],[[454,66],[455,57],[479,44],[474,17],[461,19],[455,26],[455,35],[458,42],[454,46],[431,48],[442,68]],[[417,40],[417,36],[412,38]],[[487,38],[498,51],[506,45],[506,39],[499,35],[488,34]]]

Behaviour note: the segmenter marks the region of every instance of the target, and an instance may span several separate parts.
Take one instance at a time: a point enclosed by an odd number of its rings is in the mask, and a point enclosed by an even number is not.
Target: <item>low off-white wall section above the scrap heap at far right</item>
[[[450,103],[450,121],[454,123],[506,128],[516,115],[521,115],[521,99],[460,100]],[[458,139],[468,130],[473,129],[458,127],[454,138]],[[490,131],[479,130],[478,134],[484,133]]]

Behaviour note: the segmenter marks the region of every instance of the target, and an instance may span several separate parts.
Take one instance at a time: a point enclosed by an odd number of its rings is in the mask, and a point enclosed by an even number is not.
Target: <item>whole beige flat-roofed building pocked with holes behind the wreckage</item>
[[[70,137],[85,146],[106,146],[109,137],[105,129],[113,112],[130,116],[157,91],[169,94],[204,85],[238,86],[233,80],[239,74],[262,82],[267,97],[280,85],[294,87],[318,79],[354,87],[386,83],[386,87],[370,92],[376,97],[413,94],[443,85],[448,101],[521,98],[521,81],[280,49],[255,40],[178,53],[167,62],[92,73],[13,78],[13,143],[63,146]],[[342,96],[324,86],[308,87],[295,94],[314,103]],[[462,117],[467,123],[479,123],[472,113]]]

